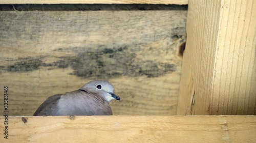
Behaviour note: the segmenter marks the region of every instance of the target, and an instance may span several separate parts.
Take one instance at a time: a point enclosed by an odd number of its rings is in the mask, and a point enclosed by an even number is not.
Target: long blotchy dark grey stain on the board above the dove
[[[100,45],[102,47],[102,45]],[[18,61],[5,68],[7,72],[29,72],[41,67],[55,68],[72,67],[74,74],[79,77],[118,77],[141,76],[158,77],[176,70],[176,65],[159,63],[153,60],[138,60],[136,46],[118,48],[73,48],[79,51],[76,56],[62,56],[53,63],[44,63],[46,56],[19,58]],[[90,49],[90,50],[89,50]],[[63,49],[57,49],[62,51]],[[90,52],[88,52],[88,50]]]

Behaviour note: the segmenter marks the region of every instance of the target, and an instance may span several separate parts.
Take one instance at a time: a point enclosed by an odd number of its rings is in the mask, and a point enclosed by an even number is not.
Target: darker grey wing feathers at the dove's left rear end
[[[56,115],[58,111],[57,103],[60,99],[60,96],[63,94],[56,94],[53,96],[50,96],[46,99],[44,103],[42,103],[33,116],[53,116]]]

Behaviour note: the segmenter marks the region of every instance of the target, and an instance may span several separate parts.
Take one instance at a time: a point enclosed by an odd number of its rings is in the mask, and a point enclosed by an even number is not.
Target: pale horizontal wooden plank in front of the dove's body
[[[256,116],[0,117],[1,142],[256,142]]]

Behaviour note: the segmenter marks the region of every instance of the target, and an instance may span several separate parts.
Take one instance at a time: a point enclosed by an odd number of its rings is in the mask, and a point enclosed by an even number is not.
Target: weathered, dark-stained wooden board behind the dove
[[[185,23],[186,11],[0,12],[9,115],[93,79],[113,83],[114,115],[176,115]]]

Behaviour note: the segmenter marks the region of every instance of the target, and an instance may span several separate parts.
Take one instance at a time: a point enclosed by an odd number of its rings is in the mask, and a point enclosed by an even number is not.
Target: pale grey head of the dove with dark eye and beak
[[[94,92],[101,96],[106,101],[110,102],[113,99],[120,100],[120,97],[115,95],[115,89],[113,85],[108,81],[93,80],[84,84],[80,90]]]

